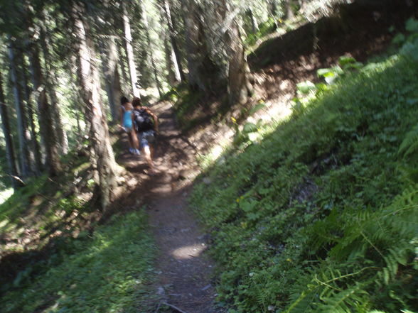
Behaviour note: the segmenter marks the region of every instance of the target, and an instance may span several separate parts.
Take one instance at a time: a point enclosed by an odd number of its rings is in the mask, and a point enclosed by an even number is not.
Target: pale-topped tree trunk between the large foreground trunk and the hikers
[[[112,123],[119,121],[119,99],[121,97],[119,72],[117,70],[117,45],[114,37],[107,40],[107,47],[104,48],[103,72],[106,83],[107,98],[109,99],[110,114],[112,114]]]

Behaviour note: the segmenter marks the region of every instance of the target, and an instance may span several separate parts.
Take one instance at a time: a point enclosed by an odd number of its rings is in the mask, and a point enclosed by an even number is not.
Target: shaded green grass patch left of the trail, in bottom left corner
[[[65,249],[18,275],[0,300],[1,312],[147,312],[155,248],[142,210],[115,216],[91,236],[61,243]]]

